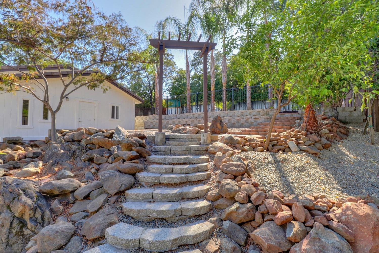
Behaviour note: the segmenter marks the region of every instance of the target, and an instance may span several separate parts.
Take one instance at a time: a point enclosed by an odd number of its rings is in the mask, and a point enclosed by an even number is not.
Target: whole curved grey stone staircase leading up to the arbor
[[[186,135],[186,138],[190,137]],[[136,174],[136,179],[146,187],[125,191],[127,202],[122,204],[125,215],[142,221],[164,218],[171,222],[211,211],[211,202],[202,198],[210,187],[197,182],[211,176],[208,171],[209,157],[199,155],[205,154],[208,146],[201,146],[198,137],[200,136],[196,135],[186,139],[190,141],[166,141],[167,146],[152,148],[153,153],[164,155],[146,157],[147,162],[153,164],[146,171]],[[175,156],[178,154],[176,151],[189,152],[179,152],[188,155]],[[183,186],[183,183],[190,185]],[[148,187],[155,184],[163,184],[163,187]],[[178,185],[172,188],[170,184]],[[106,229],[107,244],[92,248],[86,253],[125,253],[140,248],[163,252],[206,240],[215,230],[215,225],[205,220],[183,224],[185,225],[170,228],[143,228],[120,222]],[[179,252],[201,253],[199,250]]]

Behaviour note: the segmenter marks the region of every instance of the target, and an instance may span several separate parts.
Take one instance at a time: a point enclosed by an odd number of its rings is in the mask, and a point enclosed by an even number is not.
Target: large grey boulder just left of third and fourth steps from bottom
[[[133,176],[122,174],[114,170],[106,170],[99,173],[104,190],[110,195],[129,189],[134,184]]]

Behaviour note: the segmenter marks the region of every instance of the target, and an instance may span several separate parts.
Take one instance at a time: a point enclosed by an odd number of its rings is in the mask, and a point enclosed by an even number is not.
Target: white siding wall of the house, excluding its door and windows
[[[53,108],[58,104],[62,90],[59,79],[48,79],[50,101],[53,101]],[[28,83],[28,85],[33,85]],[[38,93],[38,88],[34,86]],[[39,93],[41,94],[41,93]],[[62,107],[56,115],[56,129],[76,129],[79,126],[79,103],[80,101],[92,102],[96,106],[94,109],[94,127],[101,129],[114,129],[117,125],[125,129],[134,129],[135,103],[138,102],[119,88],[110,85],[110,90],[105,94],[101,89],[95,91],[83,87],[71,93],[69,101],[64,99]],[[21,125],[22,99],[29,99],[29,125]],[[111,119],[111,105],[120,107],[119,119]],[[31,94],[16,91],[16,95],[11,93],[0,94],[0,140],[3,137],[21,136],[24,140],[44,139],[51,128],[49,120],[42,119],[43,105]]]

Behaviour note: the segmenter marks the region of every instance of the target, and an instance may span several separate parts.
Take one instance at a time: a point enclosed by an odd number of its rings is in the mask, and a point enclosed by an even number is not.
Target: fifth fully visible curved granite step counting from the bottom
[[[195,173],[198,171],[207,171],[209,169],[208,163],[195,163],[195,164],[183,164],[183,165],[172,165],[172,164],[153,164],[147,167],[147,170],[152,173],[160,174],[187,174]]]

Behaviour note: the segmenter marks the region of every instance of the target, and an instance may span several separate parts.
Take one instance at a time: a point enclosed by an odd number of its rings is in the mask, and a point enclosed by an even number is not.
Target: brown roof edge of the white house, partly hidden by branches
[[[60,65],[60,67],[63,69],[61,70],[61,74],[63,77],[67,77],[67,75],[69,74],[72,74],[72,68],[71,67],[66,67],[64,68],[63,65]],[[28,70],[28,65],[17,65],[17,66],[0,66],[0,73],[1,72],[9,72],[11,70],[20,70],[20,71],[29,71]],[[54,71],[54,70],[57,70],[57,65],[52,65],[52,66],[49,66],[49,67],[46,67],[44,68],[44,76],[46,78],[57,78],[57,77],[60,77],[59,76],[59,72],[58,71]],[[16,70],[15,70],[16,71]],[[75,69],[74,70],[74,73],[78,73],[79,70],[78,69]],[[84,71],[82,73],[82,75],[90,75],[92,73],[96,73],[97,71]],[[22,73],[14,73],[16,76],[21,76]],[[107,81],[107,82],[110,82],[110,81]],[[130,91],[128,88],[122,86],[121,84],[117,83],[116,81],[112,81],[110,82],[112,85],[116,86],[117,88],[119,88],[121,91],[124,91],[125,93],[127,93],[128,95],[134,97],[136,100],[138,100],[139,102],[143,103],[144,100],[139,97],[137,94],[133,93],[132,91]]]

